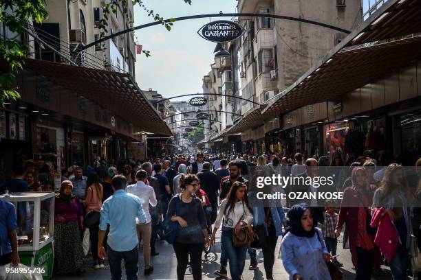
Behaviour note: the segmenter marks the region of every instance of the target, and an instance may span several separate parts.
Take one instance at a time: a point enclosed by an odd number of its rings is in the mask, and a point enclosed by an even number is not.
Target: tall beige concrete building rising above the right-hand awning
[[[353,30],[362,21],[361,1],[309,1],[239,0],[239,13],[278,14],[327,23],[344,30]],[[258,104],[268,102],[286,89],[307,69],[312,67],[327,51],[345,38],[346,34],[297,21],[269,17],[239,17],[245,32],[231,42],[233,92],[235,96],[250,100],[234,100],[234,112],[247,115],[259,109]],[[239,121],[241,117],[235,117]],[[272,128],[279,128],[279,119]],[[263,123],[262,123],[263,124]],[[270,129],[272,129],[270,128]],[[269,129],[269,130],[270,130]],[[269,131],[250,130],[242,143],[255,141]],[[254,146],[237,147],[237,150],[268,150]]]

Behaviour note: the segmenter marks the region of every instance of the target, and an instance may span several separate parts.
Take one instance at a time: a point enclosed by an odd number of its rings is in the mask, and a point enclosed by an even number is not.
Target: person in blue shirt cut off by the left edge
[[[14,205],[7,200],[0,199],[0,279],[6,277],[6,275],[1,275],[4,272],[2,266],[10,263],[17,266],[20,261],[17,251],[16,228]]]

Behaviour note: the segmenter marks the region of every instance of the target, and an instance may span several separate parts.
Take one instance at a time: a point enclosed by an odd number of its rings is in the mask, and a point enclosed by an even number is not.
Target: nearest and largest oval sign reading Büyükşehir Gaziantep
[[[215,43],[224,43],[237,39],[244,32],[244,28],[233,21],[213,21],[203,25],[197,34]]]

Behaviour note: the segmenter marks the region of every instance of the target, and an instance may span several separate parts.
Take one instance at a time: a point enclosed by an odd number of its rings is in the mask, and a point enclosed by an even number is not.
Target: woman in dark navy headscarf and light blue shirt
[[[332,259],[327,253],[323,234],[313,223],[310,208],[304,203],[294,205],[287,213],[288,229],[281,242],[281,259],[290,280],[330,280],[326,261]]]

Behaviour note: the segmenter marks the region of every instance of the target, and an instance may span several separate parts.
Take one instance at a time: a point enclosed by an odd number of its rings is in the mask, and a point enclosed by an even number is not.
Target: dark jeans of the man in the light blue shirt
[[[138,246],[136,245],[133,250],[118,252],[111,249],[108,246],[108,262],[109,269],[111,271],[112,280],[121,280],[121,260],[125,260],[126,276],[127,280],[137,280],[138,279]]]

